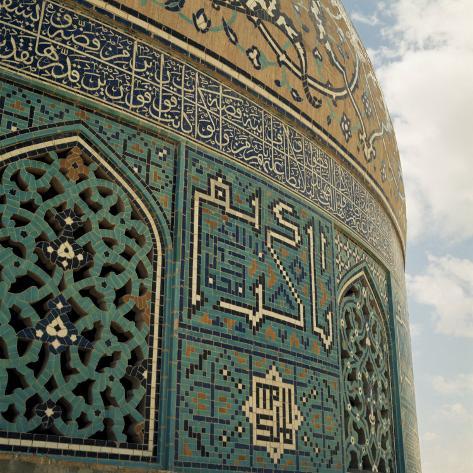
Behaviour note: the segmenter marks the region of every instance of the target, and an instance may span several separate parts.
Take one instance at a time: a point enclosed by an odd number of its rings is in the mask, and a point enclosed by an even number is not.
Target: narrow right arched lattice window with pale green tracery
[[[388,336],[364,275],[340,304],[345,452],[349,468],[395,470]]]

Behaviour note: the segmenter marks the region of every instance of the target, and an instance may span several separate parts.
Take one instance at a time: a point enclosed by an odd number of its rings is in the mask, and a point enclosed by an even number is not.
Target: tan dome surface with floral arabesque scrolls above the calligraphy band
[[[113,14],[191,54],[315,135],[378,194],[404,241],[404,185],[392,123],[340,1],[107,3]]]

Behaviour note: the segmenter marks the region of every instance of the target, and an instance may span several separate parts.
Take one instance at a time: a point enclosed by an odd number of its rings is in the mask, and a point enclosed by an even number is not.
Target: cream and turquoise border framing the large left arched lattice
[[[143,182],[139,177],[134,176],[132,170],[126,163],[105,143],[95,132],[93,132],[82,120],[70,121],[65,124],[52,124],[46,127],[34,127],[24,131],[5,135],[0,140],[0,167],[5,162],[13,160],[35,159],[48,151],[63,151],[79,145],[87,153],[90,159],[100,164],[109,179],[118,184],[121,189],[130,197],[131,202],[136,206],[136,210],[143,222],[148,226],[153,235],[153,277],[152,277],[152,317],[153,328],[148,333],[147,357],[152,360],[151,380],[146,396],[151,401],[145,409],[145,428],[147,437],[143,443],[145,448],[120,448],[104,447],[101,445],[87,445],[86,451],[101,453],[105,455],[118,454],[133,458],[158,458],[160,455],[159,444],[164,441],[164,435],[160,434],[159,424],[162,422],[163,403],[160,396],[162,391],[161,371],[163,336],[161,334],[163,317],[165,311],[164,294],[169,294],[170,282],[164,277],[164,268],[170,258],[166,251],[172,245],[172,239],[168,222],[163,218],[163,210],[157,199],[144,190]],[[128,168],[128,172],[125,169]],[[159,415],[158,415],[159,414]],[[158,420],[156,421],[156,417]],[[158,438],[158,434],[160,437]],[[35,441],[30,439],[7,439],[8,445],[23,447],[24,445],[35,447]],[[0,438],[1,443],[1,438]],[[40,442],[36,448],[38,450],[48,448],[58,450],[77,449],[76,444],[70,442]],[[46,445],[50,444],[50,445]]]

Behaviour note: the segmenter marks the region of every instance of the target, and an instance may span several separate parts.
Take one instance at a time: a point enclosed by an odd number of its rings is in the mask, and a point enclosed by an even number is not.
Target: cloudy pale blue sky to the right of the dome
[[[423,473],[473,469],[473,0],[344,0],[401,154]]]

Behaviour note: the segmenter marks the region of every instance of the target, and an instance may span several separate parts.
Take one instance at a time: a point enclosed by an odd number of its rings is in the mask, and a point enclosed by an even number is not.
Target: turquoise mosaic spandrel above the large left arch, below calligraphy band
[[[97,140],[122,157],[127,172],[140,179],[150,192],[158,194],[168,228],[172,228],[175,148],[155,135],[110,120],[78,104],[69,104],[7,80],[0,82],[0,135],[28,133],[33,127],[54,127],[57,133],[71,133],[85,127]]]

